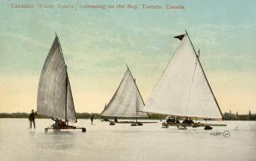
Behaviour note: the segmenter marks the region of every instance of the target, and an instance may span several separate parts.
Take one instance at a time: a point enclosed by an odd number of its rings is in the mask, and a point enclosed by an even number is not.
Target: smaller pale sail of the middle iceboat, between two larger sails
[[[109,117],[148,117],[147,113],[142,113],[144,102],[135,84],[132,73],[129,69],[124,73],[121,84],[116,93],[105,107],[101,116]]]

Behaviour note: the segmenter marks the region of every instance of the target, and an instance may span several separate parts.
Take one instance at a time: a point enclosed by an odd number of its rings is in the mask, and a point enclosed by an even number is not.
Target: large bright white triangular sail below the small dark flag
[[[189,35],[185,34],[181,39],[181,44],[153,89],[143,111],[172,116],[222,119],[222,112]]]

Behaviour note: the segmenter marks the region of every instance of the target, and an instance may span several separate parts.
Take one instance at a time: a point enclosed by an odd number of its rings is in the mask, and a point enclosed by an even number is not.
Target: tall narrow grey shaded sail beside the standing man
[[[37,111],[46,116],[76,122],[67,67],[57,36],[41,70]]]

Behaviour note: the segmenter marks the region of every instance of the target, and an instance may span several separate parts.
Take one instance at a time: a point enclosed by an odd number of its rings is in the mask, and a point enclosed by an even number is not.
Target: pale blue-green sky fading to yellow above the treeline
[[[55,5],[38,9],[38,3]],[[13,5],[34,5],[15,9]],[[124,9],[80,9],[80,5]],[[139,9],[127,9],[127,5]],[[142,4],[164,9],[142,9]],[[74,5],[74,9],[58,9]],[[182,5],[185,9],[165,9]],[[256,113],[255,1],[0,0],[0,113],[29,113],[58,34],[78,113],[100,113],[128,64],[144,102],[187,30],[222,112]]]

